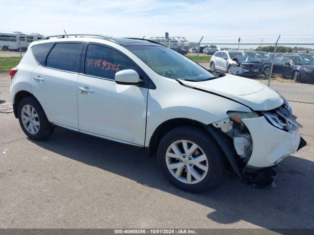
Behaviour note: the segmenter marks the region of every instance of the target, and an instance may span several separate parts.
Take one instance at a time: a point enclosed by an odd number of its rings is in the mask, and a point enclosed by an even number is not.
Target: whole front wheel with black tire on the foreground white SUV
[[[206,131],[181,126],[168,132],[157,149],[158,163],[177,188],[201,192],[216,186],[223,171],[223,153]]]

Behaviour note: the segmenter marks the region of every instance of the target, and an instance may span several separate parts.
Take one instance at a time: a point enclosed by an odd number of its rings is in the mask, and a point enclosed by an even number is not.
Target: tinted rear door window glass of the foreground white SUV
[[[46,66],[77,72],[80,62],[81,43],[57,43],[47,56]]]

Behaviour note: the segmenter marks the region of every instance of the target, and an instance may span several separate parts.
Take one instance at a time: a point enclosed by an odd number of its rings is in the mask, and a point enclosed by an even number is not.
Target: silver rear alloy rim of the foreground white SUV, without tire
[[[24,128],[30,134],[36,134],[40,127],[38,113],[33,106],[26,104],[22,108],[22,122]]]

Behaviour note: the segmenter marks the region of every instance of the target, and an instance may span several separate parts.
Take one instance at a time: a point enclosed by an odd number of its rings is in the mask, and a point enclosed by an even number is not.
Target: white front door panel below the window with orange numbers
[[[77,91],[80,130],[144,145],[148,89],[79,75]]]

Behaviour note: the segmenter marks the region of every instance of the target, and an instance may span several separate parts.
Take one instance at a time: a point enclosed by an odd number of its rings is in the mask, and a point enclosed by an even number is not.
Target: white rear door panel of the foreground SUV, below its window
[[[37,66],[32,72],[33,94],[49,121],[78,128],[77,82],[77,73],[42,66]]]

